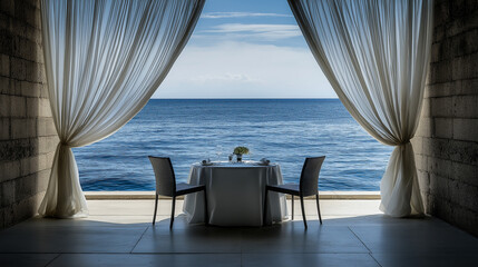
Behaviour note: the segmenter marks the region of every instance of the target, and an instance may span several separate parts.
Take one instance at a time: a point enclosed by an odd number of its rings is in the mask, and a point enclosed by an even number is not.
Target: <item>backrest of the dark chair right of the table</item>
[[[325,156],[305,158],[300,180],[302,196],[306,197],[319,194],[319,172],[324,160]]]

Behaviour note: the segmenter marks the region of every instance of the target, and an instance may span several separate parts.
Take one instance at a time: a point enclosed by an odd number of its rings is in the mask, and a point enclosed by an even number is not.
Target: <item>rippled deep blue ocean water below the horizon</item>
[[[338,99],[152,99],[115,135],[75,148],[84,190],[154,190],[147,156],[172,158],[178,181],[192,164],[245,159],[279,162],[299,181],[304,158],[326,156],[321,190],[379,190],[392,148],[370,137]]]

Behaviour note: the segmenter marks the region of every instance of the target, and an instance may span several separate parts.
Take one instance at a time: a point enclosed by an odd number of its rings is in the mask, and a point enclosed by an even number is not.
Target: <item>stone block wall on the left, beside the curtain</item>
[[[0,229],[33,216],[53,152],[38,0],[0,0]]]

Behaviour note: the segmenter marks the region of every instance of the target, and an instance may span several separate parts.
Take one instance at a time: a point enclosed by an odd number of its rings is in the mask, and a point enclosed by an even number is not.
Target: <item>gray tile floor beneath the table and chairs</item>
[[[290,201],[289,201],[290,202]],[[33,218],[0,231],[0,266],[477,266],[478,239],[436,218],[396,219],[378,200],[322,200],[319,225],[264,228],[188,225],[178,202],[89,200],[85,219]],[[300,207],[297,204],[295,207]]]

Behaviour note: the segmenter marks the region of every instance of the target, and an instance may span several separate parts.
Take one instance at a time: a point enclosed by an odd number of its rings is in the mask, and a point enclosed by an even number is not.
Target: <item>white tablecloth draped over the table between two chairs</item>
[[[262,226],[265,185],[282,185],[279,165],[214,162],[193,165],[191,185],[206,185],[209,224],[217,226]],[[204,222],[204,192],[187,195],[183,210],[191,224]],[[285,196],[269,194],[266,224],[287,216]]]

